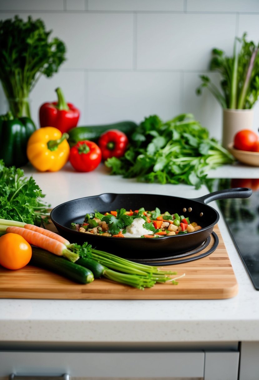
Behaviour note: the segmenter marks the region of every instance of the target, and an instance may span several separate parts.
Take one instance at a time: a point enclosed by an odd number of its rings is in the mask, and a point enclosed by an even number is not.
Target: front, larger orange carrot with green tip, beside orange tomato
[[[7,233],[14,233],[21,235],[29,244],[36,245],[36,247],[46,249],[57,256],[64,256],[73,263],[79,258],[77,253],[71,252],[65,244],[43,235],[36,231],[31,231],[23,227],[9,226],[6,228]]]

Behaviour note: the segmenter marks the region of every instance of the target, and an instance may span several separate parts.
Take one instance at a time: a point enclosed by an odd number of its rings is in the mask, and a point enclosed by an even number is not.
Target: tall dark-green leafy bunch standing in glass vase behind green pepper
[[[65,60],[65,44],[49,40],[41,19],[0,21],[0,80],[15,117],[30,117],[28,96],[43,74],[51,77]]]

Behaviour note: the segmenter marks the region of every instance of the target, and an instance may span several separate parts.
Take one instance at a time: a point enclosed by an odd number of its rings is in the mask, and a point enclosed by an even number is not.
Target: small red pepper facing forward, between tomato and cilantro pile
[[[98,142],[103,160],[105,161],[110,157],[122,157],[127,149],[128,142],[125,133],[118,129],[109,129],[104,132]]]

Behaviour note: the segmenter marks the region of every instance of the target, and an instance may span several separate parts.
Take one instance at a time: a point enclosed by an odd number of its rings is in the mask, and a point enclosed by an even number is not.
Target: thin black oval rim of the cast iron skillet
[[[71,230],[71,228],[68,228],[68,227],[66,227],[66,226],[63,226],[63,225],[61,225],[60,223],[57,223],[55,220],[54,220],[54,218],[52,217],[52,214],[54,213],[54,211],[56,210],[56,209],[58,209],[59,207],[62,207],[63,205],[65,205],[65,204],[68,204],[68,203],[72,203],[72,202],[76,202],[76,201],[81,201],[82,199],[86,199],[86,198],[96,198],[96,197],[98,197],[98,196],[101,196],[101,195],[103,195],[103,194],[106,194],[106,193],[102,193],[102,194],[98,194],[98,195],[90,195],[90,196],[86,196],[86,197],[81,197],[81,198],[77,198],[77,199],[72,199],[71,201],[67,201],[67,202],[63,202],[63,203],[61,203],[61,204],[58,204],[58,206],[55,206],[54,207],[54,209],[52,209],[52,211],[51,211],[51,214],[50,214],[50,218],[51,218],[51,220],[52,220],[52,222],[55,224],[55,225],[58,225],[62,230],[64,230],[64,231],[67,231],[67,232],[69,232],[69,233],[73,233],[73,234],[80,234],[81,236],[84,234],[83,232],[79,232],[79,231],[74,231],[74,230]],[[118,193],[112,193],[112,194],[116,194],[116,195],[118,195]],[[130,195],[135,195],[136,193],[133,193],[133,194],[130,194]],[[120,193],[120,195],[129,195],[129,193]],[[154,194],[147,194],[147,193],[143,193],[142,195],[154,195]],[[183,199],[183,198],[181,198],[181,197],[177,197],[177,196],[175,196],[174,198],[180,198],[180,199]],[[196,201],[196,199],[190,199],[190,198],[186,198],[186,200],[189,200],[189,201],[194,201],[194,202],[197,202],[197,203],[201,203],[203,206],[205,205],[205,206],[208,206],[207,204],[205,204],[205,203],[203,203],[203,202],[200,202],[200,201]],[[205,231],[205,230],[208,230],[209,228],[212,228],[213,226],[215,226],[215,224],[216,223],[218,223],[218,221],[219,221],[219,219],[220,219],[220,215],[219,215],[219,213],[218,213],[218,211],[216,211],[213,207],[211,207],[211,206],[208,206],[208,207],[210,207],[213,211],[215,211],[215,213],[216,213],[216,215],[217,215],[217,217],[216,217],[216,220],[215,220],[215,222],[213,222],[212,224],[210,224],[209,226],[206,226],[206,227],[204,227],[204,228],[202,228],[201,230],[198,230],[198,231],[193,231],[193,232],[189,232],[188,233],[188,236],[190,236],[190,235],[193,235],[193,234],[196,234],[196,233],[199,233],[200,231]],[[100,236],[97,236],[97,235],[93,235],[93,236],[96,236],[96,237],[100,237]],[[92,236],[92,238],[93,238],[93,236]],[[169,239],[170,237],[175,237],[175,236],[177,236],[178,238],[179,237],[183,237],[183,236],[185,236],[184,234],[182,234],[182,235],[171,235],[171,236],[161,236],[161,237],[158,237],[158,238],[156,238],[156,239],[148,239],[149,241],[154,241],[154,240],[164,240],[164,239]],[[109,241],[111,241],[111,239],[112,240],[117,240],[118,238],[117,237],[112,237],[112,236],[101,236],[102,237],[102,239],[103,238],[106,238],[106,239],[109,239]],[[141,237],[124,237],[123,238],[123,240],[124,239],[126,239],[126,240],[130,240],[130,241],[139,241],[139,239],[141,239]],[[151,243],[151,244],[153,244],[153,243]]]

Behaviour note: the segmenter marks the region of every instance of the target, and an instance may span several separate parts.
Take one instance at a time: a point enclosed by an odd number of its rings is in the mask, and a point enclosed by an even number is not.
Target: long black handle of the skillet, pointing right
[[[232,189],[219,190],[214,193],[210,193],[200,198],[195,198],[193,201],[201,202],[207,204],[217,199],[227,199],[227,198],[249,198],[253,191],[246,187],[235,187]]]

